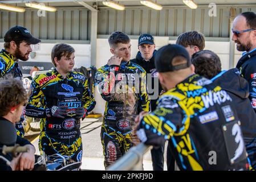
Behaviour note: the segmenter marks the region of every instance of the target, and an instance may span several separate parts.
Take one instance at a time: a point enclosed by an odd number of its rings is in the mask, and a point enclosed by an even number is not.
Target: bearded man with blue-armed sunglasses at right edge
[[[239,14],[233,22],[232,40],[237,43],[238,51],[245,51],[237,63],[237,68],[249,82],[249,99],[256,111],[256,14]]]

